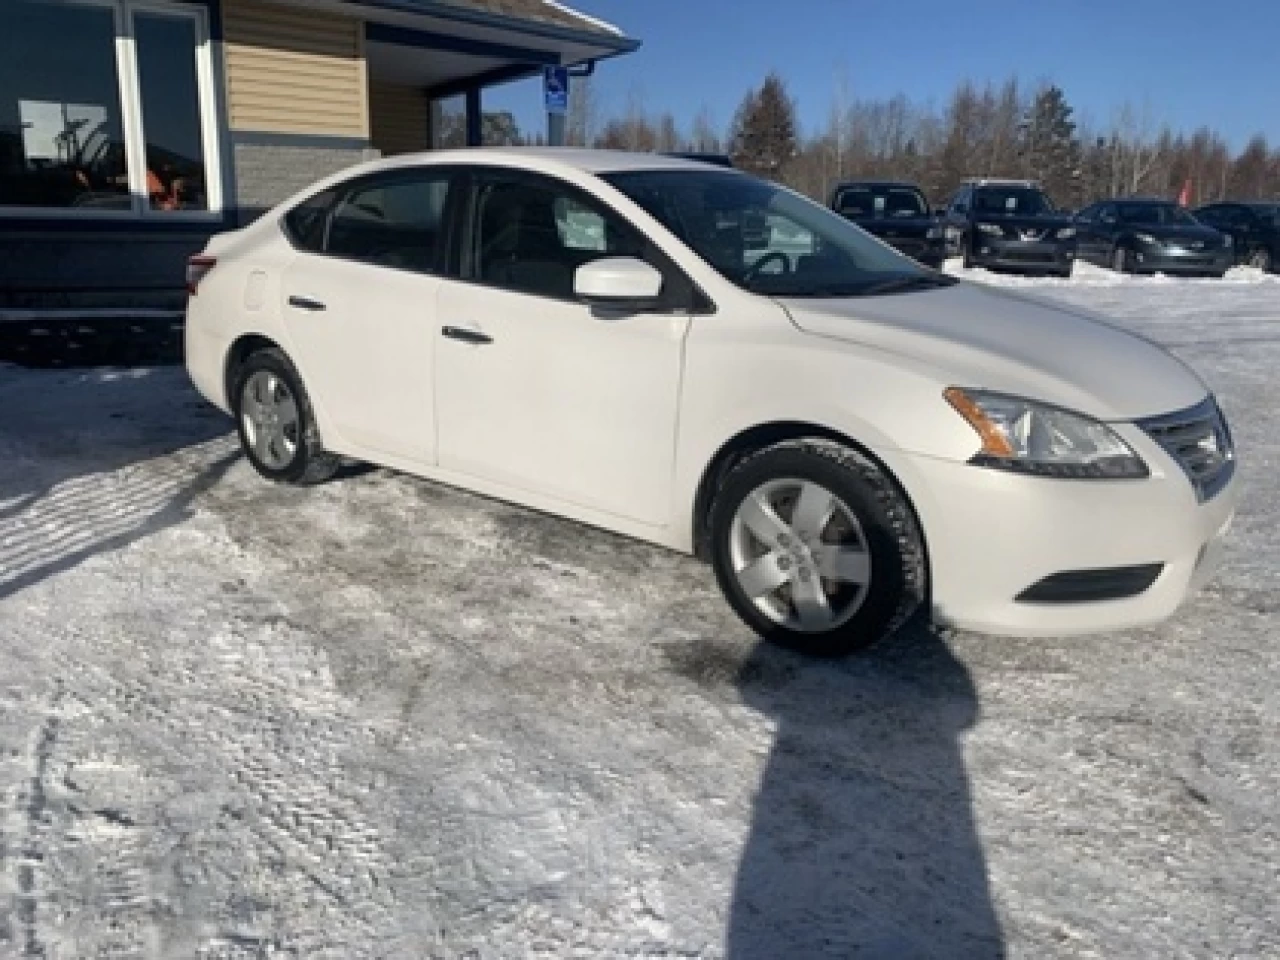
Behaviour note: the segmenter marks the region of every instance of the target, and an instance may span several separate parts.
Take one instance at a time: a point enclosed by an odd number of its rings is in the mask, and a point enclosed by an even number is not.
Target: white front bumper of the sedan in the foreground
[[[1213,575],[1238,480],[1201,503],[1181,468],[1138,428],[1117,431],[1147,461],[1149,479],[1050,480],[908,457],[920,484],[910,493],[929,550],[938,623],[1010,636],[1148,626],[1172,616]],[[1137,593],[1028,599],[1043,598],[1033,588],[1061,584],[1062,575],[1079,584],[1080,575],[1097,573],[1114,585],[1155,564],[1158,573],[1146,579],[1149,586],[1138,582]]]

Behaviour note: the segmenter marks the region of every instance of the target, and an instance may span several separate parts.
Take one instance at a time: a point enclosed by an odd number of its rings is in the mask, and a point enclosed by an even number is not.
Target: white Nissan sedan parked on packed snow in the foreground
[[[378,161],[214,237],[188,282],[191,378],[262,476],[371,461],[695,553],[813,653],[920,604],[993,634],[1161,621],[1236,502],[1222,413],[1164,349],[696,161]]]

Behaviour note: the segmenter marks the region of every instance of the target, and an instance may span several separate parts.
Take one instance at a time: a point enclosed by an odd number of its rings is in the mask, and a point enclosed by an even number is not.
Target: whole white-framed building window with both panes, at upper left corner
[[[216,211],[205,15],[150,0],[0,3],[0,215]]]

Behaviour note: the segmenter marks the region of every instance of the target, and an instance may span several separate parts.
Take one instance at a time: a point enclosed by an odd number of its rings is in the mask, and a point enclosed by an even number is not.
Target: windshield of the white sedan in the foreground
[[[754,177],[708,168],[602,178],[751,293],[856,297],[951,283],[824,206]]]

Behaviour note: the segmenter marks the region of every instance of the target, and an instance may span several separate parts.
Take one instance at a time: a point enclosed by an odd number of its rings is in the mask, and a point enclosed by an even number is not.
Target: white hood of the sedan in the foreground
[[[804,333],[927,364],[954,387],[1010,393],[1101,420],[1170,413],[1208,393],[1188,366],[1142,337],[1074,307],[979,284],[780,302]]]

